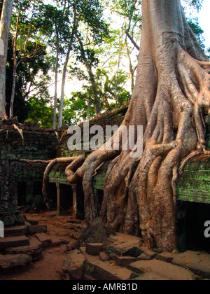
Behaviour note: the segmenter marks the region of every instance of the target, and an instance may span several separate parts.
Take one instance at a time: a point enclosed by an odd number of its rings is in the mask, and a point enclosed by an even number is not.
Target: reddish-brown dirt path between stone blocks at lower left
[[[65,244],[57,247],[45,248],[41,260],[31,262],[25,272],[13,274],[1,274],[0,280],[60,280],[62,265],[66,258],[66,248],[71,247],[78,239],[80,230],[85,228],[84,221],[73,221],[71,211],[67,216],[57,216],[56,211],[48,211],[43,214],[25,214],[28,220],[38,221],[38,225],[47,225],[47,235],[62,239]],[[36,237],[31,237],[36,238]]]

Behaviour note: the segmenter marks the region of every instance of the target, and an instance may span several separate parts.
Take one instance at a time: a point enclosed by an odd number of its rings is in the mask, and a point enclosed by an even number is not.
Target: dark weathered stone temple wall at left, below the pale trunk
[[[20,160],[55,158],[58,140],[57,132],[41,129],[38,125],[20,125],[16,120],[0,122],[0,221],[5,225],[23,222],[17,208],[18,183],[25,183],[27,194],[30,195],[29,191],[32,193],[34,183],[42,181],[47,165]]]

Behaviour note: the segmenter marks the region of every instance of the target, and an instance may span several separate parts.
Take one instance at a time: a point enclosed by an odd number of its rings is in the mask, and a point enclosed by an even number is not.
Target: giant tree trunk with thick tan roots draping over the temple
[[[139,234],[162,251],[176,250],[176,180],[181,160],[205,151],[210,63],[188,26],[180,0],[142,0],[136,85],[123,125],[143,125],[144,153],[92,153],[71,177],[83,178],[85,216],[101,214],[109,232]],[[97,211],[92,175],[112,160]]]

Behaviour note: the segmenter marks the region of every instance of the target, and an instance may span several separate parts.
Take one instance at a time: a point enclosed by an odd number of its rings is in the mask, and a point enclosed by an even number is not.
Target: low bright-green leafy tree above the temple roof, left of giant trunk
[[[78,68],[71,69],[71,75],[75,75],[78,80],[83,80],[83,83],[87,80],[88,85],[83,85],[83,91],[72,92],[71,99],[64,100],[63,117],[65,125],[77,125],[96,115],[95,97],[90,77],[86,76],[83,71],[79,71]],[[130,101],[131,94],[124,88],[127,78],[128,75],[120,71],[116,89],[116,74],[109,78],[107,71],[97,68],[94,73],[94,83],[97,87],[97,99],[102,111],[111,111],[116,108],[116,103],[114,102],[116,90],[118,92],[119,107]]]

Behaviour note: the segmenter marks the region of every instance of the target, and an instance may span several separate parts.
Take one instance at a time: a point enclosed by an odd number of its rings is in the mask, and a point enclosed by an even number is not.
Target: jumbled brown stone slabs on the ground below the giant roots
[[[202,280],[210,278],[210,255],[158,253],[138,237],[117,233],[69,251],[62,271],[73,280]]]

